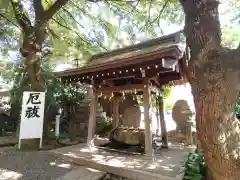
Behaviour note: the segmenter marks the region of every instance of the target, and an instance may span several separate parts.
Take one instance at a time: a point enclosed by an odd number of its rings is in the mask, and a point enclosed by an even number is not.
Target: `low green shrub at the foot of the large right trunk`
[[[184,167],[183,180],[204,180],[207,177],[203,153],[189,153]]]

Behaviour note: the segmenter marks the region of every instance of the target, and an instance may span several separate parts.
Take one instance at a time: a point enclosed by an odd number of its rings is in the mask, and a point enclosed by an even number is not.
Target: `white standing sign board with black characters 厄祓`
[[[22,113],[18,147],[21,139],[40,138],[42,147],[45,92],[23,92]]]

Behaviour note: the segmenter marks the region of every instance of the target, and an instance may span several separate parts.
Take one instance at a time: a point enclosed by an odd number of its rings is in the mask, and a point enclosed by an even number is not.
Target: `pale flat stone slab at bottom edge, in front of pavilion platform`
[[[88,168],[85,166],[79,166],[76,169],[67,173],[60,180],[100,180],[105,175],[106,172]]]

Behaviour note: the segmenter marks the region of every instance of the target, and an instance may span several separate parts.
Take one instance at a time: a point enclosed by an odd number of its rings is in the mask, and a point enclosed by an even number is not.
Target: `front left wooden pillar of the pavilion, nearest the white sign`
[[[92,86],[90,86],[89,90],[89,98],[91,98],[90,102],[90,114],[89,114],[89,122],[88,122],[88,137],[87,137],[87,145],[92,145],[93,136],[95,134],[96,127],[96,109],[97,109],[97,96],[94,87],[94,83],[92,81]]]

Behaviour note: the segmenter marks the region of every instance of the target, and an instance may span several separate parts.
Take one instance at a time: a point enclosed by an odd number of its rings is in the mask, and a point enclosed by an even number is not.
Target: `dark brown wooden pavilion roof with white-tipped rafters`
[[[58,72],[57,75],[68,82],[90,83],[91,79],[96,79],[100,83],[111,78],[139,77],[141,70],[146,69],[148,77],[159,75],[161,79],[180,80],[184,53],[185,38],[178,32],[94,55],[87,65]]]

